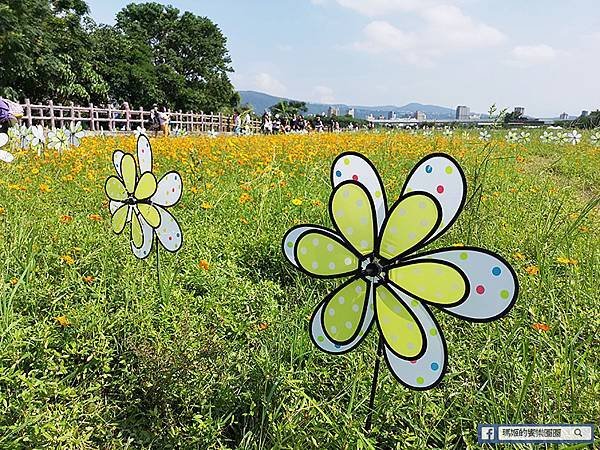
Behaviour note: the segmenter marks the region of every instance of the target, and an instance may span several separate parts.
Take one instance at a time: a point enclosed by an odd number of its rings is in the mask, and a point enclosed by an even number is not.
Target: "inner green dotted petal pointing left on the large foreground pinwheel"
[[[311,231],[296,243],[298,265],[311,275],[334,277],[358,269],[358,258],[341,241],[324,233]]]

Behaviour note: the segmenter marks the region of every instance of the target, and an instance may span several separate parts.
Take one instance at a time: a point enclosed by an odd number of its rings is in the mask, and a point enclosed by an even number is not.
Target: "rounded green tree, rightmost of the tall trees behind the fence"
[[[156,89],[143,105],[159,100],[175,109],[218,111],[239,103],[228,78],[227,39],[210,19],[158,3],[130,4],[117,14],[115,29],[137,49],[149,48]]]

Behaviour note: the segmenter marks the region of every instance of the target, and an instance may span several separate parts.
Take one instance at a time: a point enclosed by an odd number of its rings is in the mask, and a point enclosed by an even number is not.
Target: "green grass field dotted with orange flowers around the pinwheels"
[[[152,140],[178,170],[176,255],[136,260],[103,191],[116,148],[87,138],[0,167],[1,448],[474,448],[478,423],[600,418],[600,148],[406,133]],[[584,136],[584,140],[587,136]],[[421,156],[463,165],[468,204],[436,246],[510,261],[510,314],[471,324],[434,311],[448,373],[409,391],[382,367],[363,424],[377,333],[329,356],[308,317],[335,285],[294,270],[281,238],[331,226],[329,168],[345,150],[378,166],[390,197]],[[57,319],[59,318],[59,319]],[[598,434],[598,433],[597,433]],[[377,444],[376,444],[377,442]],[[516,447],[518,448],[518,447]]]

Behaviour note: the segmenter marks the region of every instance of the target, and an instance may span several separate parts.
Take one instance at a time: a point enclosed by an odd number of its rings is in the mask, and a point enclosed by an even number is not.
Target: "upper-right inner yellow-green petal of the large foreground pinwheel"
[[[379,253],[394,259],[413,249],[437,228],[438,205],[424,194],[408,194],[393,207],[384,225]]]

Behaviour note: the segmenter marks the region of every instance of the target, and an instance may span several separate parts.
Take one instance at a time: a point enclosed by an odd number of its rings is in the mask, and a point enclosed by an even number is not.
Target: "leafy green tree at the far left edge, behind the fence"
[[[85,102],[108,85],[89,58],[84,0],[3,0],[0,95]]]

